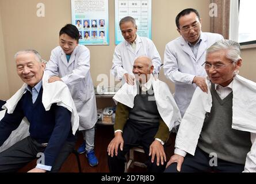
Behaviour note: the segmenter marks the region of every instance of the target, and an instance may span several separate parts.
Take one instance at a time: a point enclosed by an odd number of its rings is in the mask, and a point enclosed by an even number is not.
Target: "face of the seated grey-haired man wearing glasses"
[[[212,83],[221,85],[223,87],[228,86],[235,75],[235,71],[242,65],[242,60],[238,62],[232,62],[232,60],[226,57],[227,51],[221,50],[212,53],[208,53],[205,64],[216,65],[223,64],[225,67],[221,70],[215,70],[213,67],[206,70],[207,75],[211,79]]]

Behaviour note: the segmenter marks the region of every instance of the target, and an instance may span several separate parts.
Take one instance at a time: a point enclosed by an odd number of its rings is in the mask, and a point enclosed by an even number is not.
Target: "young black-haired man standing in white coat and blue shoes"
[[[63,81],[70,89],[79,114],[79,130],[83,132],[85,143],[78,149],[86,152],[90,166],[97,166],[94,153],[94,126],[97,122],[97,108],[93,81],[90,76],[90,51],[78,44],[79,31],[67,24],[59,33],[60,46],[52,50],[45,68],[48,82]]]

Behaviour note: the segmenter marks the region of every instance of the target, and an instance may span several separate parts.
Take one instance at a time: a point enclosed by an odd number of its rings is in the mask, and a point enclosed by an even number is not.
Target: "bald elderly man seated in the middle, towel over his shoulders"
[[[152,75],[150,58],[138,57],[133,64],[134,85],[125,83],[116,95],[114,139],[108,145],[109,170],[124,172],[125,154],[135,146],[142,146],[148,155],[147,170],[158,173],[165,170],[164,145],[181,115],[166,83]]]

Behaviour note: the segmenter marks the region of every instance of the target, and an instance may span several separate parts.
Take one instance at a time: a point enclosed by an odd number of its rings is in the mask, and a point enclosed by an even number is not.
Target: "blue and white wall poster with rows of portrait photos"
[[[82,45],[109,45],[108,0],[71,0],[72,24]]]

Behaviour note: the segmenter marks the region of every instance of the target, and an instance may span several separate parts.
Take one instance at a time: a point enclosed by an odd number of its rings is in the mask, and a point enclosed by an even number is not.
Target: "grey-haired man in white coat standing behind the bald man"
[[[139,56],[150,57],[154,66],[153,74],[158,74],[161,66],[161,57],[154,43],[136,34],[137,25],[133,17],[124,17],[119,22],[124,41],[116,46],[113,55],[113,66],[111,72],[118,79],[125,79],[133,85],[132,67],[135,59]]]

